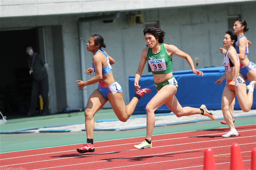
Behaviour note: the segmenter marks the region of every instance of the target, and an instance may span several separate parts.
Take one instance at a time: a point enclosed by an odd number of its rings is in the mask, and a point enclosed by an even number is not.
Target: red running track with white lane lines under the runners
[[[256,146],[256,125],[237,126],[239,136],[221,137],[228,128],[155,135],[152,148],[133,148],[145,137],[95,142],[95,152],[80,154],[81,144],[0,154],[0,170],[28,169],[203,169],[204,149],[212,148],[217,169],[229,169],[231,145],[238,143],[244,168],[251,167]],[[22,168],[22,169],[21,169]],[[18,170],[18,169],[17,169]]]

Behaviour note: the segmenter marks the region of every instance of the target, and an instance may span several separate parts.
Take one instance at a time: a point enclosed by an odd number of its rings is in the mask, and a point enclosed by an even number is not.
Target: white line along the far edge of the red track
[[[250,126],[250,125],[256,125],[256,124],[248,124],[248,125],[239,125],[239,126]],[[239,127],[239,126],[236,126],[236,127]],[[215,128],[215,129],[223,129],[223,128],[228,128],[228,127],[222,127],[222,128]],[[204,130],[210,130],[210,129],[204,129]],[[255,130],[255,129],[252,129],[252,130]],[[185,131],[185,132],[174,132],[174,133],[165,133],[165,134],[159,134],[159,135],[169,135],[169,134],[175,134],[175,133],[186,133],[186,132],[195,132],[195,131],[202,131],[202,130],[191,130],[191,131]],[[246,131],[246,130],[244,130]],[[248,130],[250,131],[250,130]],[[239,132],[243,132],[243,131],[239,131]],[[32,133],[33,134],[33,133]],[[219,134],[222,134],[222,133],[219,133]],[[152,135],[152,136],[159,136],[159,135]],[[214,135],[214,134],[212,134]],[[201,135],[201,136],[206,136],[206,135]],[[140,136],[140,137],[145,137],[145,136]],[[196,136],[195,136],[196,137]],[[94,142],[94,143],[98,143],[98,142],[107,142],[107,141],[115,141],[115,140],[123,140],[123,139],[132,139],[132,138],[139,138],[139,137],[128,137],[128,138],[122,138],[122,139],[112,139],[112,140],[104,140],[104,141],[97,141],[97,142]],[[137,143],[137,142],[136,142]],[[80,144],[83,144],[83,143],[80,143]],[[132,143],[134,144],[134,143]],[[62,146],[71,146],[71,145],[78,145],[78,144],[68,144],[68,145],[62,145]],[[37,148],[37,149],[28,149],[28,150],[21,150],[21,151],[12,151],[12,152],[22,152],[22,151],[31,151],[31,150],[38,150],[38,149],[47,149],[47,148],[55,148],[55,147],[62,147],[62,146],[52,146],[52,147],[45,147],[45,148]],[[113,145],[114,146],[114,145]],[[104,146],[102,146],[104,147]],[[99,147],[97,147],[99,148]],[[74,150],[75,151],[75,150]],[[63,152],[66,152],[66,151],[63,151]],[[3,153],[11,153],[11,152],[3,152]],[[2,153],[0,153],[2,154]]]

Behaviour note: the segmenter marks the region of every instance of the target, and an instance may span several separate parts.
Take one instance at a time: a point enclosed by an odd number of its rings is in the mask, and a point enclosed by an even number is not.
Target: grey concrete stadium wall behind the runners
[[[246,20],[249,31],[245,35],[252,42],[248,57],[252,62],[256,62],[255,6],[256,3],[253,1],[236,4],[150,9],[141,10],[140,13],[144,15],[145,22],[158,21],[159,27],[166,32],[164,43],[177,46],[188,53],[193,60],[198,57],[199,66],[197,68],[203,68],[221,66],[223,55],[220,54],[219,48],[222,47],[223,36],[228,30],[228,16],[231,15],[240,15],[241,18]],[[50,95],[55,96],[55,100],[57,100],[58,92],[56,89],[58,84],[56,82],[58,81],[56,81],[56,76],[58,76],[58,69],[56,67],[62,67],[65,84],[62,87],[65,90],[62,94],[65,99],[62,102],[66,102],[65,104],[70,108],[83,107],[82,91],[79,91],[76,85],[76,80],[80,80],[81,74],[84,72],[84,70],[81,70],[76,25],[80,17],[85,16],[73,14],[0,18],[0,29],[45,28],[46,57],[48,63],[53,62],[49,63],[49,69],[52,71],[52,74],[49,75],[50,93],[52,93]],[[86,51],[86,43],[92,34],[101,34],[107,46],[106,49],[103,49],[116,61],[113,65],[113,75],[115,80],[123,87],[126,104],[129,103],[128,77],[136,73],[141,51],[146,47],[143,35],[145,24],[129,25],[128,17],[129,12],[121,12],[120,17],[112,23],[103,23],[102,21],[83,23],[86,68],[92,65],[92,54]],[[56,33],[56,26],[61,27],[61,38],[59,37],[60,33],[55,36],[52,34]],[[59,37],[58,40],[62,41],[62,63],[58,62],[58,57],[61,58],[61,56],[55,57],[54,48],[60,48],[53,44],[56,37]],[[190,67],[186,60],[173,56],[174,71],[188,69]],[[148,73],[148,65],[146,65],[143,74]],[[86,78],[91,77],[86,76]],[[54,83],[51,84],[51,81],[54,81]],[[88,86],[87,96],[90,96],[97,86],[97,84]],[[55,105],[55,111],[59,111],[60,107],[57,109],[57,104],[51,102],[51,105]],[[110,105],[107,104],[106,107],[110,107]]]

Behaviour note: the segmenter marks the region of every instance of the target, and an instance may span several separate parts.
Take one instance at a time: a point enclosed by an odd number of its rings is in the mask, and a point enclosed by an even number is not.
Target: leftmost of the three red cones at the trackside
[[[204,150],[204,170],[217,170],[212,148]]]

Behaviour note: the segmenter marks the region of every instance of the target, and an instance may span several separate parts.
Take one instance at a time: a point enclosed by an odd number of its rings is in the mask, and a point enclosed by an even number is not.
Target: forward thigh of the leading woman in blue
[[[90,95],[86,105],[86,109],[89,109],[90,113],[94,115],[105,105],[107,101],[108,99],[101,94],[100,90],[96,89]]]

